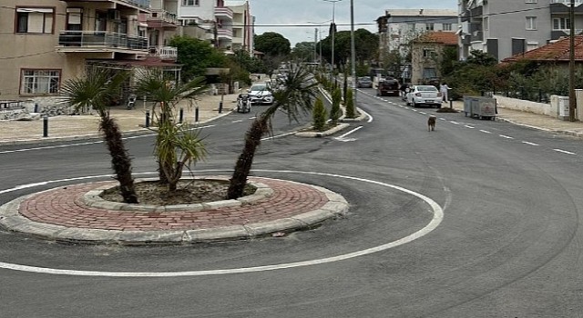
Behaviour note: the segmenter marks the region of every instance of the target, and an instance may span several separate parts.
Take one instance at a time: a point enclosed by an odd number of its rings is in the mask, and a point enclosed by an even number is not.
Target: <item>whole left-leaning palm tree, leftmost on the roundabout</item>
[[[95,109],[99,114],[99,131],[107,144],[111,155],[111,167],[119,182],[119,190],[127,204],[137,204],[138,196],[134,188],[134,178],[131,175],[131,159],[121,138],[118,123],[109,116],[109,105],[119,93],[127,73],[111,74],[102,68],[87,69],[84,78],[73,78],[61,86],[64,95],[62,104],[82,109]]]

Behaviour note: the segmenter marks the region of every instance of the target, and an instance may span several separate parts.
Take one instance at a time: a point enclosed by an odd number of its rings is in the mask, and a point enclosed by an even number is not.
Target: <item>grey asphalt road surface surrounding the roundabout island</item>
[[[305,122],[278,114],[253,166],[343,194],[346,217],[284,237],[185,246],[0,231],[0,317],[581,317],[581,141],[373,93],[358,94],[370,120],[342,138],[286,135]],[[230,174],[252,116],[205,127],[210,155],[194,173]],[[155,171],[152,144],[128,139],[137,176]],[[107,179],[108,159],[98,142],[5,147],[0,202]],[[443,219],[412,194],[439,204]]]

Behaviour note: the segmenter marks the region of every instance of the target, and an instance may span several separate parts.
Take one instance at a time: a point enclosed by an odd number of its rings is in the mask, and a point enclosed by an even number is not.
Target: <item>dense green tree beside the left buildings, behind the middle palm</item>
[[[169,45],[178,48],[177,62],[182,65],[182,80],[185,82],[205,75],[208,67],[224,67],[227,63],[227,57],[209,41],[184,35],[172,37]]]

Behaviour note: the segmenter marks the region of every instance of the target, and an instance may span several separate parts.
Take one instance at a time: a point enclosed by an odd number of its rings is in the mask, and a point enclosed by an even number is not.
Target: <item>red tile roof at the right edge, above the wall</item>
[[[502,62],[517,62],[520,60],[531,61],[558,61],[568,62],[569,60],[569,38],[561,38],[555,43],[538,47],[534,50],[507,57]],[[575,60],[583,62],[583,35],[575,35]]]

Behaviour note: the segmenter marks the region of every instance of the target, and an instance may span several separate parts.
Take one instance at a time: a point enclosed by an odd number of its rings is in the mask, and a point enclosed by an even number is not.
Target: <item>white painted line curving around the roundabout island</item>
[[[202,170],[200,172],[220,172],[226,170]],[[434,231],[439,224],[442,223],[444,220],[444,210],[442,207],[437,204],[431,198],[425,196],[424,194],[416,193],[412,190],[406,189],[404,187],[394,185],[394,184],[385,184],[379,181],[374,181],[370,179],[358,178],[349,175],[342,175],[342,174],[324,174],[324,173],[316,173],[316,172],[309,172],[309,171],[277,171],[277,170],[253,170],[255,172],[268,172],[268,173],[283,173],[283,174],[315,174],[315,175],[324,175],[324,176],[331,176],[336,178],[343,178],[353,181],[360,181],[363,183],[369,184],[376,184],[384,187],[389,187],[397,191],[404,192],[405,194],[411,194],[418,199],[425,202],[425,204],[429,205],[430,209],[433,211],[433,217],[431,221],[425,225],[422,229],[413,234],[409,234],[404,236],[401,239],[390,243],[384,243],[381,245],[373,246],[370,248],[366,248],[360,251],[352,252],[352,253],[344,253],[336,256],[330,257],[323,257],[317,258],[308,261],[301,261],[301,262],[292,262],[292,263],[279,263],[279,264],[271,264],[271,265],[261,265],[261,266],[252,266],[252,267],[240,267],[240,268],[229,268],[229,269],[217,269],[217,270],[202,270],[202,271],[185,271],[185,272],[100,272],[100,271],[76,271],[76,270],[62,270],[56,268],[48,268],[48,267],[37,267],[37,266],[28,266],[16,263],[4,263],[0,262],[0,268],[14,270],[14,271],[21,271],[21,272],[28,272],[28,273],[48,273],[48,274],[57,274],[57,275],[70,275],[70,276],[99,276],[99,277],[178,277],[178,276],[206,276],[206,275],[220,275],[220,274],[232,274],[232,273],[257,273],[257,272],[265,272],[265,271],[274,271],[274,270],[281,270],[287,268],[297,268],[303,266],[311,266],[317,265],[322,263],[333,263],[333,262],[340,262],[345,261],[348,259],[352,259],[355,257],[360,257],[363,255],[371,254],[371,253],[378,253],[390,248],[403,245],[404,243],[410,243],[414,240],[423,237],[426,234],[431,233]],[[157,174],[157,173],[144,173],[144,174]],[[87,177],[81,177],[87,178]],[[79,179],[81,179],[79,178]],[[73,180],[73,179],[66,179],[66,180]],[[48,183],[56,183],[59,181],[50,181]]]

